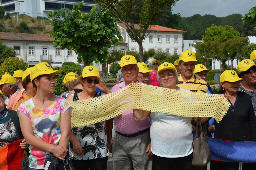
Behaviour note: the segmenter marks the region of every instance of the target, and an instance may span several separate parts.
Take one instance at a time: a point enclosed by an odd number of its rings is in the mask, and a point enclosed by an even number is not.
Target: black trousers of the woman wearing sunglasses
[[[107,170],[108,156],[89,160],[72,160],[76,170]]]

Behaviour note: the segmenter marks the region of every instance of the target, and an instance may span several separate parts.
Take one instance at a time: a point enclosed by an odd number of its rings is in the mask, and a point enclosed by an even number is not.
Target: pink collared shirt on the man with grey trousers
[[[139,81],[139,80],[138,80]],[[142,83],[139,81],[139,83]],[[119,84],[116,84],[112,89],[111,92],[117,91],[119,89],[123,89],[125,87],[125,82],[121,82]],[[124,99],[126,100],[126,99]],[[150,119],[149,115],[148,117],[141,121],[136,122],[133,118],[133,112],[132,110],[129,110],[117,117],[114,117],[114,129],[115,131],[118,131],[123,134],[132,134],[137,133],[139,131],[143,131],[150,127]]]

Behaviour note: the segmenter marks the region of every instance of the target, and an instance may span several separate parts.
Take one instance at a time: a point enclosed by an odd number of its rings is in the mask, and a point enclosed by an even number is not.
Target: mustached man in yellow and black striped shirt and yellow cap
[[[193,92],[208,93],[207,83],[193,74],[196,61],[196,54],[190,50],[183,51],[180,54],[179,67],[181,74],[177,86]]]

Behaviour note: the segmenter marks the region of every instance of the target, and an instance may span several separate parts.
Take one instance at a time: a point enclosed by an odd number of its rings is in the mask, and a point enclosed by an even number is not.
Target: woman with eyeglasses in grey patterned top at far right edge
[[[251,96],[254,113],[256,115],[256,66],[252,60],[242,60],[237,65],[237,71],[241,80],[238,91]]]

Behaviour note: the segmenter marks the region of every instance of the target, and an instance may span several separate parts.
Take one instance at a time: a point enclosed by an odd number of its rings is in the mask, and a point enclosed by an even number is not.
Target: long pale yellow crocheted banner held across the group
[[[73,107],[72,127],[95,124],[132,109],[182,117],[213,117],[219,122],[230,106],[223,95],[166,89],[142,83],[70,104]]]

